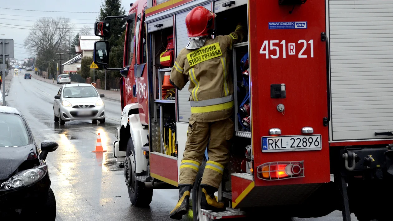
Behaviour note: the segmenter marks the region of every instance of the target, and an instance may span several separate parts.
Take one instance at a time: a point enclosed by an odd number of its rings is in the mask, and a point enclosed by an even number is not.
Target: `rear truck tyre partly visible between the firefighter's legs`
[[[202,188],[200,183],[202,182],[203,172],[206,166],[206,159],[203,160],[202,164],[199,166],[198,174],[196,174],[195,183],[193,187],[192,201],[193,201],[193,214],[194,221],[211,221],[207,216],[203,216],[200,212],[200,201],[202,197]]]

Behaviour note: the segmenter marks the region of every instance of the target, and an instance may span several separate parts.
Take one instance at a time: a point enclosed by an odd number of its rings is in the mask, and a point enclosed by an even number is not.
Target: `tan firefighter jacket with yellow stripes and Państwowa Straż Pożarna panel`
[[[207,39],[195,50],[180,51],[171,71],[171,83],[179,90],[190,81],[191,118],[197,122],[227,119],[233,112],[233,80],[229,65],[232,45],[241,42],[242,26],[225,36]]]

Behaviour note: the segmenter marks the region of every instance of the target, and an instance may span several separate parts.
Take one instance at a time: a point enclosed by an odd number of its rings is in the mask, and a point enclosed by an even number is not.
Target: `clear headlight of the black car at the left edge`
[[[42,179],[42,177],[45,176],[47,171],[48,171],[47,164],[43,164],[28,170],[23,170],[13,175],[11,178],[9,178],[8,181],[2,183],[0,190],[3,188],[9,190],[22,186],[29,186]]]

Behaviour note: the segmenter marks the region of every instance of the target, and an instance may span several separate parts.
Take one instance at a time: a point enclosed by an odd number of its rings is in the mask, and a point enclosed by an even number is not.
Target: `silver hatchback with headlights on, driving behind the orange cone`
[[[65,84],[55,95],[53,115],[55,122],[64,125],[66,121],[97,120],[105,123],[105,104],[91,84]]]

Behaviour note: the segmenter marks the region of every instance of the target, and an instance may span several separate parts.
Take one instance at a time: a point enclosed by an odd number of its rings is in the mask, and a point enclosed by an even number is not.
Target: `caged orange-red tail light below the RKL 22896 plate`
[[[304,177],[304,161],[264,163],[257,166],[257,174],[263,180]]]

